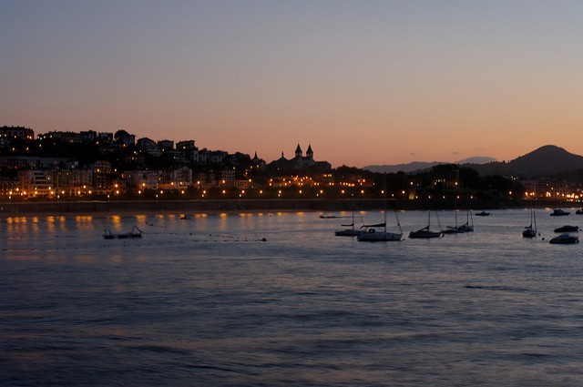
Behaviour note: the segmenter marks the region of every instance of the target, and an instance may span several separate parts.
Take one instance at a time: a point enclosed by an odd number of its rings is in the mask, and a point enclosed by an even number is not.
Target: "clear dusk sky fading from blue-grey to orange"
[[[0,126],[362,168],[583,155],[580,0],[0,0]]]

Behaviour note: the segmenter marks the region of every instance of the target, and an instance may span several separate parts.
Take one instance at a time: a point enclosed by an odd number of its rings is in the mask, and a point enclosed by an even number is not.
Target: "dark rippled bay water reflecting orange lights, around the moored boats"
[[[583,243],[548,240],[583,216],[549,213],[0,218],[0,385],[580,386]]]

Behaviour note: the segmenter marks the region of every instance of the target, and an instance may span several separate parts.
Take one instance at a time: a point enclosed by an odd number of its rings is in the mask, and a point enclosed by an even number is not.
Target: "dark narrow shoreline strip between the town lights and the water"
[[[431,204],[431,205],[430,205]],[[480,202],[471,206],[459,206],[457,209],[490,210],[530,207],[528,202],[515,203],[513,206],[489,207]],[[580,209],[574,202],[537,201],[536,208]],[[371,210],[371,209],[440,209],[454,208],[447,203],[427,203],[412,200],[385,199],[192,199],[192,200],[112,200],[112,201],[35,201],[0,203],[0,218],[19,215],[66,215],[66,214],[119,214],[119,213],[155,213],[177,212],[191,214],[197,212],[278,212],[278,211],[314,211],[330,213],[335,211]]]

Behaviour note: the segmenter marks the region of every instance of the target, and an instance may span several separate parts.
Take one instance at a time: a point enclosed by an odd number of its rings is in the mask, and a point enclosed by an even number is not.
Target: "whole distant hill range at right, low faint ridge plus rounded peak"
[[[408,173],[432,168],[439,164],[452,163],[438,161],[413,162],[409,164],[368,166],[363,169],[368,169],[373,172],[395,173],[403,171]],[[508,162],[495,161],[494,158],[479,157],[466,158],[455,164],[462,167],[476,169],[476,171],[482,176],[513,175],[521,178],[537,178],[583,169],[583,156],[574,155],[567,150],[554,145],[547,145]]]

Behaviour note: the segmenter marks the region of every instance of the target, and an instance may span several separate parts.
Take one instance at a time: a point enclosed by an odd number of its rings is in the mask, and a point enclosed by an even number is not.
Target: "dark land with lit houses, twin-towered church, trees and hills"
[[[154,141],[126,130],[35,135],[27,127],[0,127],[0,200],[385,198],[426,207],[464,200],[491,207],[577,202],[582,159],[543,147],[508,163],[383,173],[332,168],[317,160],[311,144],[267,162],[257,153],[199,148],[194,139]],[[551,162],[564,169],[549,168]]]

